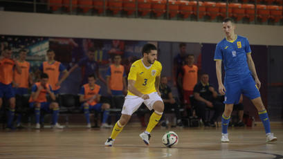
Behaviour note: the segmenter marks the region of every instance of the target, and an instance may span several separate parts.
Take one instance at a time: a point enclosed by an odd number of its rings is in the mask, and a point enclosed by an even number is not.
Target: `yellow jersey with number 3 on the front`
[[[160,62],[155,61],[152,66],[145,66],[142,59],[137,60],[131,64],[128,75],[128,80],[135,80],[134,87],[143,94],[156,92],[155,78],[161,75],[162,65]],[[128,95],[134,95],[128,91]]]

